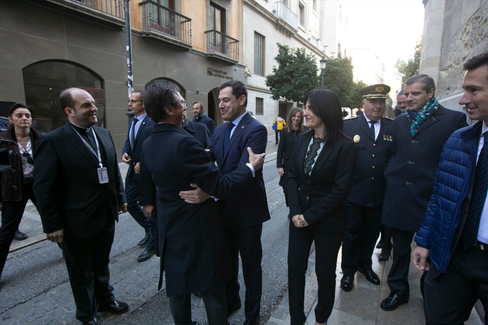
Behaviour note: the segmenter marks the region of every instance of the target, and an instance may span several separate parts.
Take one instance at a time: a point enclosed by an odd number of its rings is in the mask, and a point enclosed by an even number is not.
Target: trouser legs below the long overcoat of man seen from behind
[[[215,291],[202,292],[203,305],[207,314],[208,325],[228,325],[227,300],[225,285]],[[169,297],[169,307],[175,325],[192,325],[191,295]]]

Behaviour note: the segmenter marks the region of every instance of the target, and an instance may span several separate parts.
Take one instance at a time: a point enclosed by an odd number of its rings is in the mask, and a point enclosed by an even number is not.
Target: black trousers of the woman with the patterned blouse
[[[315,273],[318,283],[318,303],[315,321],[325,323],[334,306],[337,254],[344,231],[329,233],[317,226],[296,228],[290,220],[288,240],[288,295],[291,325],[305,323],[305,272],[312,242],[315,242]]]

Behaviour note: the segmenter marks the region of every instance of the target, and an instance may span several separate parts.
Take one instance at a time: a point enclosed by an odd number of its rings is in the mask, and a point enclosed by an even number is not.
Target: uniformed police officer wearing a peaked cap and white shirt
[[[356,143],[356,171],[351,193],[344,203],[347,227],[342,243],[341,288],[350,291],[356,271],[379,285],[371,268],[371,255],[380,233],[386,190],[385,167],[390,157],[393,119],[384,117],[390,87],[383,84],[359,91],[363,114],[344,120],[344,132]]]

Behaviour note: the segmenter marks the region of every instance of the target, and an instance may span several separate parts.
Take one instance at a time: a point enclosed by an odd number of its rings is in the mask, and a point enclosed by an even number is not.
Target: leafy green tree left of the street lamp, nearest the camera
[[[278,66],[273,66],[273,73],[266,76],[266,86],[273,93],[271,98],[303,101],[306,94],[319,87],[317,58],[313,54],[306,54],[303,47],[297,49],[280,43],[277,45],[275,60]]]

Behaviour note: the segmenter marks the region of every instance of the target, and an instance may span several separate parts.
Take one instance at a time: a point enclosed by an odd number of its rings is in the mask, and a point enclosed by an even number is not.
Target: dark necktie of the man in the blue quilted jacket
[[[469,205],[468,218],[464,225],[461,240],[464,249],[473,247],[478,238],[478,228],[480,226],[481,212],[485,205],[488,191],[488,132],[485,132],[480,138],[484,139],[483,148],[481,149],[478,162],[476,163],[476,172],[474,174],[473,196]]]

